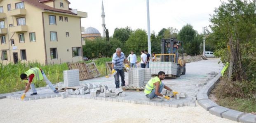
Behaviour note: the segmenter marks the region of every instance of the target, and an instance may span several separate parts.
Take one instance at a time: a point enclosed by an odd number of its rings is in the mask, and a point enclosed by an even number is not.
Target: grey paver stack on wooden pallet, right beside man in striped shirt
[[[141,91],[145,89],[145,85],[151,79],[150,68],[130,68],[128,76],[129,85],[122,87],[122,89],[135,89]]]

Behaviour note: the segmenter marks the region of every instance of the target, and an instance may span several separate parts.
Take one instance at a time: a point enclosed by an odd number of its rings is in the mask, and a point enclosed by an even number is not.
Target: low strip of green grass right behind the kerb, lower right
[[[256,102],[254,99],[219,98],[216,103],[223,107],[234,109],[240,112],[256,112]]]

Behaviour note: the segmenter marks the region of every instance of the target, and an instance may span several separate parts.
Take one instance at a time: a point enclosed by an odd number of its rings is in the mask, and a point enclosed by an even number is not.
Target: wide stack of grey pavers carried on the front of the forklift
[[[165,74],[177,74],[177,65],[173,62],[150,62],[149,68],[151,74],[158,74],[159,71],[164,71]]]

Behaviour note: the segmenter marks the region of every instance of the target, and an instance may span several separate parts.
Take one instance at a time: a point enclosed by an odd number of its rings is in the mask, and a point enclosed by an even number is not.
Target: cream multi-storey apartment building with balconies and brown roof
[[[0,63],[82,61],[81,18],[68,0],[0,0]]]

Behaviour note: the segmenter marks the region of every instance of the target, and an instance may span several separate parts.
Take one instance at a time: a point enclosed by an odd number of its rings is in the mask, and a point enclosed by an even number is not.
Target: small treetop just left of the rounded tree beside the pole
[[[125,28],[115,28],[113,38],[118,39],[122,43],[125,43],[129,39],[129,36],[132,34],[132,29],[130,27]]]

